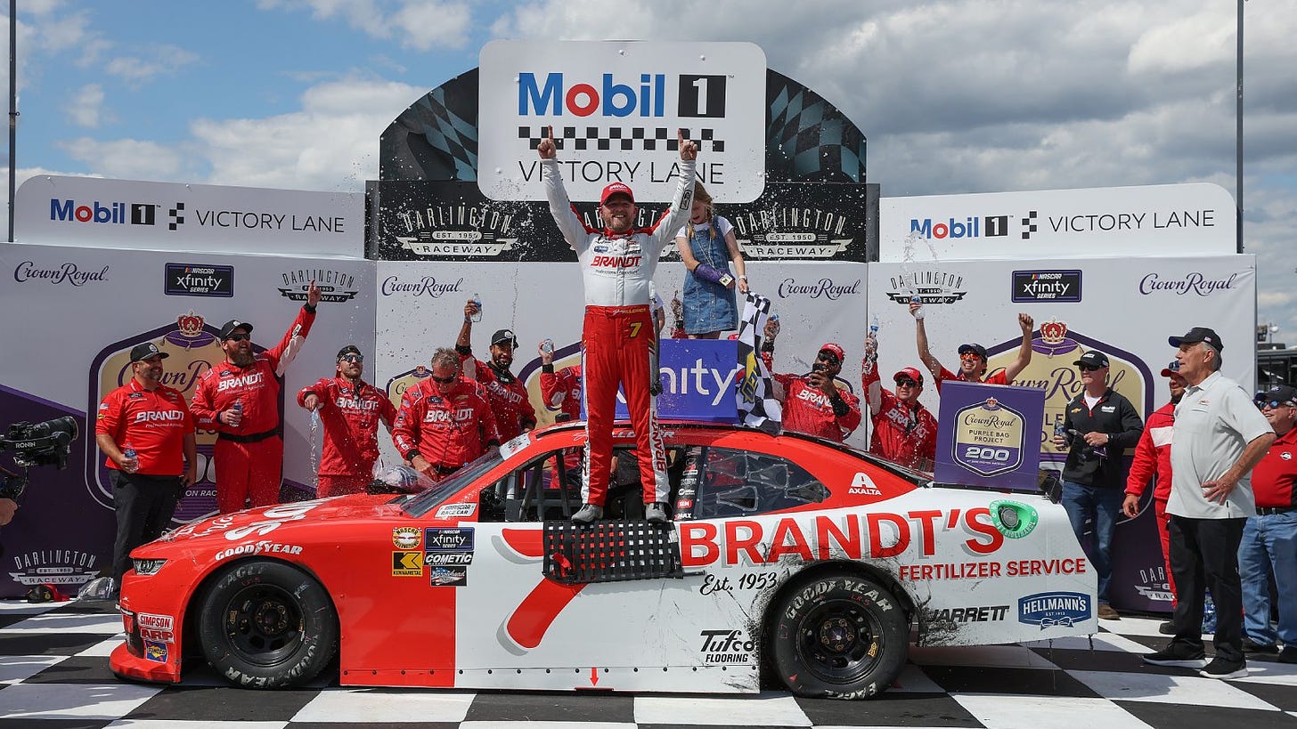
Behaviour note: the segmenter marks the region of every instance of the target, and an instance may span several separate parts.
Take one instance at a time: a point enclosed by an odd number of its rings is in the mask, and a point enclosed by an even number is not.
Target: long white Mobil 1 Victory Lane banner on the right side
[[[1233,198],[1209,183],[879,200],[879,261],[1219,256],[1235,252]]]

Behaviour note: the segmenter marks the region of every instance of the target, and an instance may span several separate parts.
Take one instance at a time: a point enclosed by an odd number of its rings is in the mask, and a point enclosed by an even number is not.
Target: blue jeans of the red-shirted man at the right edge
[[[1270,571],[1279,590],[1279,630],[1270,624]],[[1243,632],[1254,643],[1297,646],[1297,511],[1253,516],[1239,545]]]

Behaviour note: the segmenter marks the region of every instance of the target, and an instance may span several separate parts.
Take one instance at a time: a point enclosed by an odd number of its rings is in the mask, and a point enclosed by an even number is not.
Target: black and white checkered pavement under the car
[[[1297,728],[1297,665],[1250,660],[1246,678],[1144,665],[1157,620],[1104,621],[1087,638],[913,649],[898,685],[868,702],[754,697],[464,693],[311,687],[248,691],[210,672],[183,687],[118,681],[121,619],[105,603],[0,602],[0,729],[494,729],[665,726]],[[1112,630],[1112,632],[1109,632]]]

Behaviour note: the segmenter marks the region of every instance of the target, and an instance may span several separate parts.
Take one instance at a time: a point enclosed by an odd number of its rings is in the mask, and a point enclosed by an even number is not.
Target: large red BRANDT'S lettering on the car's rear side
[[[916,510],[905,514],[844,514],[838,518],[785,518],[774,523],[734,519],[721,527],[711,523],[680,524],[680,556],[684,567],[765,564],[783,558],[882,559],[910,549],[923,556],[936,553],[936,540],[956,532],[962,547],[991,554],[1004,545],[1004,534],[991,521],[986,507],[943,511]]]

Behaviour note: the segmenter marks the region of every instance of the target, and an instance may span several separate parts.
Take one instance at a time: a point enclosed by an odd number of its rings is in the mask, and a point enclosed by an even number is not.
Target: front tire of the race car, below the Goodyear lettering
[[[283,562],[226,567],[198,610],[202,654],[236,686],[310,681],[337,652],[337,615],[324,586]]]

